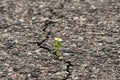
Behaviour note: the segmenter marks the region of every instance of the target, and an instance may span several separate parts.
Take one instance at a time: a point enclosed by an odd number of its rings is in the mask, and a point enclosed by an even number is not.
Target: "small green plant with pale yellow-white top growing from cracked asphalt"
[[[61,38],[55,38],[55,54],[57,57],[59,57],[59,49],[62,47],[62,43],[61,43],[62,39]]]

